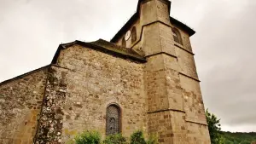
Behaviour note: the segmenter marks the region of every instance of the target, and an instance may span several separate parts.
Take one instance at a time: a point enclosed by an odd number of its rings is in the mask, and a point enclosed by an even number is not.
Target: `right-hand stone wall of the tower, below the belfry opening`
[[[189,35],[181,29],[179,29],[179,32],[181,33],[183,45],[175,43],[175,52],[180,67],[179,79],[184,101],[188,141],[189,144],[208,144],[210,143],[210,136],[194,54],[189,41]]]

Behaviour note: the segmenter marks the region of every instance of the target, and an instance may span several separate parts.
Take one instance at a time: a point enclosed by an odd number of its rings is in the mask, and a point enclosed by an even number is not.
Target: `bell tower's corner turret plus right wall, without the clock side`
[[[201,89],[189,32],[170,17],[168,0],[141,0],[138,4],[147,59],[144,83],[148,96],[148,133],[160,143],[210,143]],[[182,43],[174,39],[173,28]]]

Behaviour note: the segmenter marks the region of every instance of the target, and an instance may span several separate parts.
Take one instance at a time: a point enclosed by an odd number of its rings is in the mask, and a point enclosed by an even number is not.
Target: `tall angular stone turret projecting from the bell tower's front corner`
[[[160,143],[188,143],[180,66],[172,37],[170,5],[167,0],[140,1],[143,28],[142,48],[148,95],[148,133],[159,135]]]

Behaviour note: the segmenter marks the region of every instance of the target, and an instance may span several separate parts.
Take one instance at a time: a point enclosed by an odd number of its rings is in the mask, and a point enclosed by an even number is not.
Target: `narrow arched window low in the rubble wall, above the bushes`
[[[106,117],[106,134],[120,133],[120,108],[116,105],[108,106]]]

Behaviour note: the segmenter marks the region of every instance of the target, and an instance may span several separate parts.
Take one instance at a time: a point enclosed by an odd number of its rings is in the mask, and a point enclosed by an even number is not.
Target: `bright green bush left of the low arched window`
[[[96,131],[84,131],[75,137],[76,144],[100,144],[101,136]]]

